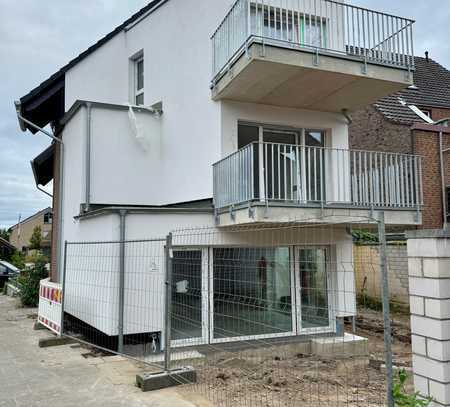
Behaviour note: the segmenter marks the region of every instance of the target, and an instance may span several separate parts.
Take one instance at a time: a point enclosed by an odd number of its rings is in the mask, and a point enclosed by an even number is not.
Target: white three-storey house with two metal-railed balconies
[[[352,110],[412,84],[412,24],[328,0],[148,4],[16,102],[22,130],[51,123],[58,138],[50,154],[53,280],[62,279],[64,241],[209,227],[214,239],[174,235],[175,260],[189,253],[188,283],[202,287],[194,329],[180,328],[176,339],[334,331],[336,317],[356,309],[353,273],[343,266],[352,261],[348,226],[370,223],[377,211],[389,225],[421,223],[420,158],[348,149]],[[35,160],[37,184],[49,180],[49,159],[46,151]],[[332,238],[323,225],[286,233],[293,222],[336,226]],[[217,283],[230,273],[225,256],[246,276],[253,305],[233,294],[240,279]],[[162,331],[164,268],[157,264],[139,287],[160,287],[159,306],[145,320],[126,311],[133,323],[125,321],[125,334]],[[312,272],[322,293],[305,300]],[[101,319],[75,299],[74,285],[93,274],[67,280],[66,310],[115,336],[116,308],[106,302]],[[189,291],[183,279],[174,283]],[[117,285],[104,290],[117,296]],[[223,299],[215,290],[235,295],[232,313],[246,313],[247,325],[230,332],[216,318]],[[266,317],[271,325],[262,328],[256,319]]]

